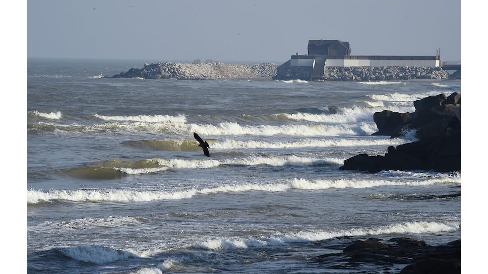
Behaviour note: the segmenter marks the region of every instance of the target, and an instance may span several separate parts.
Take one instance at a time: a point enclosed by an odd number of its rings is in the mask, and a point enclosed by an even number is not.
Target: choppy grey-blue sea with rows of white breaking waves
[[[102,78],[143,64],[28,60],[28,273],[396,273],[316,257],[460,239],[460,173],[339,171],[415,141],[375,112],[460,81]]]

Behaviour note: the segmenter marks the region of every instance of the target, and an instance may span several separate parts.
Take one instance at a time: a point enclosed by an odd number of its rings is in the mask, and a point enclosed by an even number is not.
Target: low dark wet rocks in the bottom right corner
[[[334,269],[351,270],[364,264],[391,269],[394,265],[407,264],[400,270],[401,274],[454,274],[461,273],[461,240],[429,246],[424,241],[404,237],[388,241],[370,238],[355,241],[342,252],[320,255],[314,260]]]

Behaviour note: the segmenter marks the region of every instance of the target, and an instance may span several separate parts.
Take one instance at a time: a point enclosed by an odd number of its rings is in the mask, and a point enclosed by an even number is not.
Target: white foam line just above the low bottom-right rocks
[[[406,233],[439,233],[451,232],[460,228],[460,222],[405,222],[376,228],[353,228],[341,231],[298,231],[294,233],[275,234],[268,237],[250,239],[215,238],[194,243],[193,248],[211,250],[246,249],[250,247],[283,246],[290,243],[316,242],[345,236],[378,236],[385,234]]]

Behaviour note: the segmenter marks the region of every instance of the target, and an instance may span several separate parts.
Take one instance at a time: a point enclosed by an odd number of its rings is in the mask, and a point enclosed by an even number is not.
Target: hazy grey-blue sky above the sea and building
[[[460,0],[28,0],[28,57],[284,62],[309,39],[353,55],[461,60]]]

